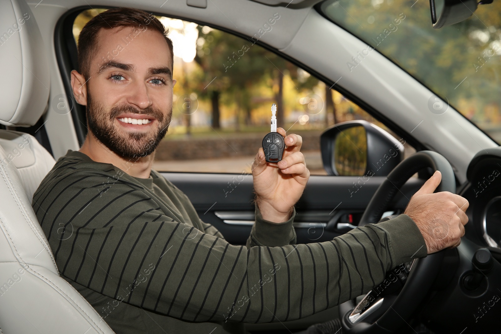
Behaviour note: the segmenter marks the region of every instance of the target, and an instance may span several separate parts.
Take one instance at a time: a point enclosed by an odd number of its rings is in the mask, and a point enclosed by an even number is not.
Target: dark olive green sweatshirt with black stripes
[[[231,245],[158,172],[133,177],[72,150],[32,205],[60,275],[116,333],[236,333],[244,322],[299,319],[368,292],[388,270],[427,254],[404,214],[295,244],[295,210],[275,224],[257,206],[246,246]]]

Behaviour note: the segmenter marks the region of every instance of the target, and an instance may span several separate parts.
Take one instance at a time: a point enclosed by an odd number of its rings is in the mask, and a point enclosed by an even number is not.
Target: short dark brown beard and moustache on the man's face
[[[124,113],[153,116],[158,126],[155,131],[120,132],[114,125],[115,119]],[[111,151],[123,158],[146,157],[153,153],[167,133],[172,107],[167,115],[158,108],[148,107],[138,110],[130,105],[116,106],[107,112],[104,107],[87,95],[87,123],[89,131]],[[118,121],[120,122],[120,121]]]

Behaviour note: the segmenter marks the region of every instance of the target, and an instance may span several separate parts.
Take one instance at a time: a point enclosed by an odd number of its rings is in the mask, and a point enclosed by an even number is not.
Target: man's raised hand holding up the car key
[[[265,152],[260,148],[253,163],[254,191],[263,219],[283,222],[290,218],[294,204],[303,194],[310,171],[305,157],[299,150],[303,139],[291,134],[286,137],[283,128],[277,132],[284,136],[286,149],[278,163],[266,162]]]

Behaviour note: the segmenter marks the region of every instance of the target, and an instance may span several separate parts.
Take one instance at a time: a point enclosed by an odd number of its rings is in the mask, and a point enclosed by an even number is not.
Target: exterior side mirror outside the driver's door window
[[[367,121],[336,124],[320,136],[322,162],[329,175],[385,176],[403,160],[404,147]]]

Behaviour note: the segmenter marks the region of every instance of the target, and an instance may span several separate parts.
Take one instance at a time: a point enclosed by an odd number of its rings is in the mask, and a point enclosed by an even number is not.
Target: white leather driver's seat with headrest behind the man
[[[22,29],[10,34],[15,23]],[[42,36],[25,0],[0,1],[0,32],[10,34],[0,46],[0,123],[34,125],[46,110],[50,78]],[[111,334],[96,310],[59,276],[31,206],[54,163],[35,137],[0,130],[0,332]]]

